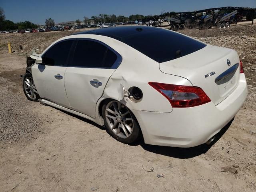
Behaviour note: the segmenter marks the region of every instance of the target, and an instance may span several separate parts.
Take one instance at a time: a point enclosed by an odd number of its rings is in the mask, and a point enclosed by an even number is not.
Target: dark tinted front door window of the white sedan
[[[73,40],[62,41],[52,46],[42,57],[45,65],[67,65]]]

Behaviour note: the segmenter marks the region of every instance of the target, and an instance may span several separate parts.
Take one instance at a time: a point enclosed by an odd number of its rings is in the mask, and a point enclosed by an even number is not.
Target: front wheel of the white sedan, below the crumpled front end
[[[26,73],[22,78],[23,92],[30,101],[38,101],[40,98],[31,73]]]

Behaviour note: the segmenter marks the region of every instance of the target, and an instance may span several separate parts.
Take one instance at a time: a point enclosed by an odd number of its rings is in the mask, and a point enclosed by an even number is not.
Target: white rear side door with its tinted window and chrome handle
[[[73,110],[96,117],[96,103],[122,57],[102,42],[77,40],[73,59],[65,73],[65,88]]]

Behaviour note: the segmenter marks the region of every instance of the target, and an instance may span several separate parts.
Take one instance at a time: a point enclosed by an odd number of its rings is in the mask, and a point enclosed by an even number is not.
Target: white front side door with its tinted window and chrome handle
[[[35,86],[41,98],[70,108],[64,75],[73,40],[58,42],[42,55],[42,64],[32,66]]]

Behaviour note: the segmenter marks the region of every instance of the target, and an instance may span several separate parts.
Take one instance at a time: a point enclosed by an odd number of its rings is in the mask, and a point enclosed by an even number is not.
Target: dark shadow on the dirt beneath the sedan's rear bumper
[[[224,135],[224,133],[228,130],[230,125],[232,124],[232,121],[234,118],[228,122],[222,130],[218,134],[216,134],[215,139],[213,142],[209,145],[202,144],[196,147],[191,147],[191,148],[178,148],[178,147],[166,147],[166,146],[155,146],[155,145],[149,145],[145,144],[143,140],[134,143],[133,145],[140,145],[144,150],[168,156],[168,157],[174,157],[174,158],[179,158],[179,159],[188,159],[188,158],[193,158],[196,156],[199,156],[201,154],[206,153],[218,140]]]

